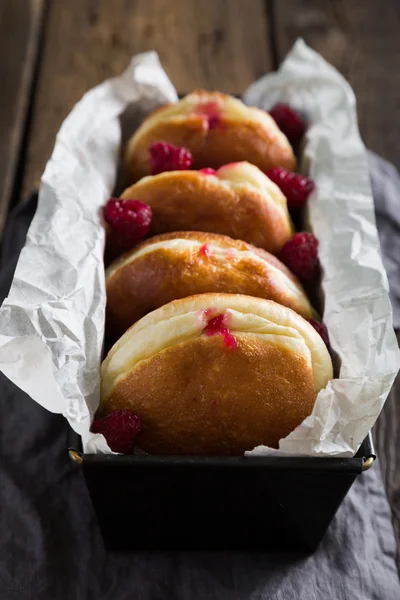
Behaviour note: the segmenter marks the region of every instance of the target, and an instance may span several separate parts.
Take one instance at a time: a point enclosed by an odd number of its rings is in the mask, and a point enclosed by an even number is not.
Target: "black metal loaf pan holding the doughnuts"
[[[69,454],[83,469],[105,544],[115,550],[312,552],[375,458]]]

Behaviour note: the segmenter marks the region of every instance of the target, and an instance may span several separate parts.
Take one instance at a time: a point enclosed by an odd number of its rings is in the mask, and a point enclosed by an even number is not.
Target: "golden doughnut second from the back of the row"
[[[285,196],[247,162],[225,165],[215,175],[170,171],[145,177],[121,198],[151,206],[151,235],[221,233],[277,254],[293,233]]]

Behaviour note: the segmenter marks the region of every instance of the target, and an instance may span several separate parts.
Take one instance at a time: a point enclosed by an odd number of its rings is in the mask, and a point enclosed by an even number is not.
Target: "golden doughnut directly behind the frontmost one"
[[[150,238],[110,265],[106,288],[107,326],[118,336],[163,304],[207,292],[266,298],[312,317],[299,281],[280,260],[212,233],[182,231]]]

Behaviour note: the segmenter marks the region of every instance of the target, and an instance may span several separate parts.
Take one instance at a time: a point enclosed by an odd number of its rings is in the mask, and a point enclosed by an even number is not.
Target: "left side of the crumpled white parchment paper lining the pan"
[[[37,213],[0,311],[0,370],[62,413],[87,452],[110,452],[89,432],[99,404],[105,279],[100,208],[115,184],[119,115],[148,112],[177,94],[154,52],[90,90],[64,121],[47,163]]]

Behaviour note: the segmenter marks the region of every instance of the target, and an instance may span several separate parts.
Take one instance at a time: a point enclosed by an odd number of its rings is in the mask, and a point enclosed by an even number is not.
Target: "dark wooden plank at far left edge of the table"
[[[0,235],[14,188],[44,0],[0,0]]]

